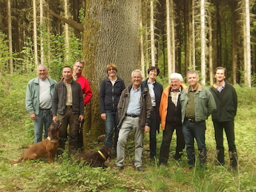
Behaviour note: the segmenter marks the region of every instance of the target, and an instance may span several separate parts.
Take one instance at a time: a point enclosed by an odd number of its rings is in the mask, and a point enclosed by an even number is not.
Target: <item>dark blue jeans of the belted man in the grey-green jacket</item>
[[[190,166],[195,165],[194,138],[197,142],[200,164],[205,164],[206,162],[205,130],[205,121],[191,123],[185,119],[182,124],[182,132],[188,154],[188,164]]]

